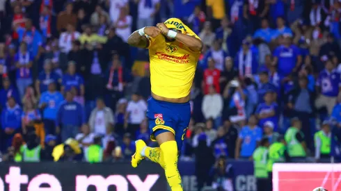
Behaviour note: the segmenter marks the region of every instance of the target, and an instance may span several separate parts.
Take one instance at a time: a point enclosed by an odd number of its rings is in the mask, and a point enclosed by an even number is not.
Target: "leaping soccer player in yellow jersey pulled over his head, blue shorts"
[[[172,191],[182,191],[177,157],[191,117],[189,94],[203,42],[180,19],[170,18],[135,31],[128,44],[149,49],[152,97],[147,117],[150,138],[160,146],[137,140],[132,166],[149,158],[164,168]]]

